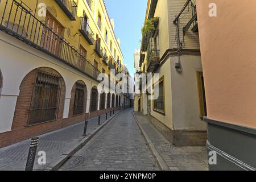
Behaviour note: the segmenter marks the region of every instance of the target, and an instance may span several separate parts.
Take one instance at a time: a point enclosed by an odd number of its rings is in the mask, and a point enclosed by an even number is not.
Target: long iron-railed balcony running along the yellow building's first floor
[[[97,80],[100,71],[20,0],[0,1],[0,30]]]

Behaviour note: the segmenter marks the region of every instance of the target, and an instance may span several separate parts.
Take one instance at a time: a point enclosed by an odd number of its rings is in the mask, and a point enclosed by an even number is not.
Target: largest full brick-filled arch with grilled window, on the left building
[[[63,118],[65,83],[52,68],[37,68],[20,84],[12,129]],[[22,114],[19,114],[22,113]]]

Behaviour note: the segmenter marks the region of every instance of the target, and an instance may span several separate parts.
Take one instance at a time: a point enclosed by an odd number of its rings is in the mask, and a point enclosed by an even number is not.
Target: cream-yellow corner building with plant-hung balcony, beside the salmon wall
[[[159,97],[150,100],[142,88],[135,107],[140,105],[141,113],[150,115],[156,129],[177,146],[205,145],[207,138],[195,13],[192,1],[148,0],[144,30],[148,24],[151,30],[142,35],[141,73],[152,74],[148,87],[158,85]]]

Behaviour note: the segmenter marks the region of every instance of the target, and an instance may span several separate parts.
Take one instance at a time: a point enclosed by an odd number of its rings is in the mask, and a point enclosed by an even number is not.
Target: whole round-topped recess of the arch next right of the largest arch
[[[75,92],[73,98],[73,115],[82,114],[86,107],[86,86],[84,82],[77,81],[73,92]]]

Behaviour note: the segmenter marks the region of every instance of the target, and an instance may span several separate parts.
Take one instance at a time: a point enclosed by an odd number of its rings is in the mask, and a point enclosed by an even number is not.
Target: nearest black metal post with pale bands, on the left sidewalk
[[[25,171],[33,171],[35,156],[36,156],[36,149],[38,148],[38,141],[39,141],[38,137],[31,139],[30,150],[28,151],[27,164],[26,164]]]

